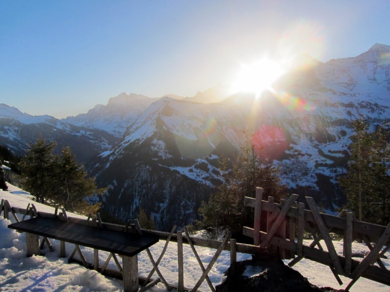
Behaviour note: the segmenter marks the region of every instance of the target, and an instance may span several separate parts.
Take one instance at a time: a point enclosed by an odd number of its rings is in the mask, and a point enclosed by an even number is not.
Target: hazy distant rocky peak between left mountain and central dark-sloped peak
[[[126,128],[156,100],[141,94],[127,95],[122,92],[110,98],[106,106],[97,104],[86,114],[68,116],[62,120],[80,127],[104,130],[121,138]]]

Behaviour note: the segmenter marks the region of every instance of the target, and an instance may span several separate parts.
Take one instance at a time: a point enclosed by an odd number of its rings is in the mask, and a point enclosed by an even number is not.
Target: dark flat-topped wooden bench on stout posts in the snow
[[[158,242],[153,235],[140,235],[103,229],[82,223],[82,220],[62,221],[58,218],[36,217],[8,225],[26,232],[27,256],[39,255],[39,236],[87,246],[122,256],[124,291],[138,291],[138,258],[142,250]]]

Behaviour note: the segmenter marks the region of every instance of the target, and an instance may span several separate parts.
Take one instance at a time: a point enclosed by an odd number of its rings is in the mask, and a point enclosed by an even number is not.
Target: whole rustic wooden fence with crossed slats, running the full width
[[[385,227],[372,223],[361,222],[356,220],[353,214],[347,211],[342,211],[338,216],[320,213],[316,204],[314,203],[314,200],[311,197],[306,197],[310,210],[305,210],[303,203],[296,203],[297,198],[298,195],[291,195],[287,200],[281,200],[280,204],[273,202],[273,197],[268,197],[268,201],[263,201],[262,188],[256,188],[255,198],[245,197],[245,205],[255,208],[255,221],[253,229],[249,227],[243,228],[243,234],[254,238],[254,245],[236,243],[235,239],[230,239],[231,234],[228,234],[222,242],[190,237],[185,228],[183,230],[184,236],[181,231],[177,231],[175,234],[174,231],[176,230],[176,225],[172,228],[171,232],[161,232],[138,228],[138,232],[142,232],[144,234],[153,234],[158,236],[161,240],[166,241],[163,251],[161,252],[161,255],[157,261],[154,261],[154,259],[148,253],[148,256],[153,264],[153,270],[147,278],[140,277],[140,283],[142,282],[144,285],[150,283],[151,276],[154,271],[156,271],[163,283],[167,286],[168,290],[171,288],[177,288],[179,291],[197,291],[202,282],[206,280],[211,291],[215,291],[215,288],[211,284],[207,274],[215,264],[222,250],[228,250],[230,251],[230,263],[236,261],[237,252],[248,254],[277,252],[281,259],[292,259],[289,262],[289,266],[293,266],[303,258],[314,260],[329,266],[340,285],[342,285],[342,281],[338,275],[344,275],[351,278],[352,281],[346,287],[346,290],[349,290],[349,288],[353,285],[353,283],[356,282],[356,280],[358,280],[360,276],[386,285],[390,285],[390,271],[386,269],[385,265],[380,259],[390,248],[390,223],[387,227]],[[9,203],[4,200],[1,201],[0,206],[0,213],[2,211],[4,211],[4,218],[8,219],[9,213],[11,213],[16,221],[18,221],[16,213],[23,215],[22,220],[25,219],[26,215],[51,217],[57,215],[57,210],[54,215],[44,212],[37,212],[34,204],[31,206],[28,204],[26,209],[11,207]],[[66,216],[66,211],[63,209],[63,212],[59,213],[59,215],[64,216],[64,214]],[[75,218],[69,218],[69,220],[74,222],[89,221],[89,219],[81,220]],[[266,225],[265,230],[261,230],[262,222],[266,222],[266,224],[263,224]],[[116,225],[101,222],[99,216],[94,218],[94,220],[90,222],[90,225],[100,226],[106,229],[121,230],[124,232],[129,232],[129,230],[136,232],[137,230],[137,221],[135,221],[135,224],[131,224],[129,222],[126,226]],[[313,237],[313,241],[310,245],[303,244],[304,230],[309,232]],[[330,232],[339,234],[344,238],[343,256],[337,255],[330,238]],[[320,244],[321,239],[324,240],[328,251],[323,250],[323,247]],[[355,239],[364,241],[370,249],[370,252],[361,261],[352,259],[351,246],[352,241]],[[164,253],[170,241],[177,242],[177,286],[171,283],[167,283],[161,275],[161,272],[158,270],[158,264],[163,259]],[[45,238],[43,239],[41,246],[43,247],[45,242],[50,247],[50,241]],[[374,245],[372,245],[372,243],[374,243]],[[200,269],[202,269],[203,272],[199,281],[193,288],[184,287],[183,244],[188,244],[191,246],[191,249],[194,252],[194,256],[199,262]],[[199,255],[195,250],[195,246],[216,249],[216,253],[207,267],[204,267],[200,261]],[[383,248],[383,246],[385,246],[385,248]],[[61,243],[61,257],[65,257],[64,247],[64,243]],[[76,250],[76,252],[78,252],[78,250]],[[95,253],[96,255],[94,264],[87,263],[82,256],[80,256],[82,260],[73,259],[74,253],[70,259],[73,262],[83,264],[84,266],[90,269],[95,269],[107,276],[123,279],[121,267],[118,265],[119,263],[117,263],[115,257],[111,255],[103,267],[99,267],[97,252]],[[107,264],[110,258],[115,260],[115,264],[117,265],[118,270],[107,268]],[[374,265],[375,262],[377,262],[379,266]]]

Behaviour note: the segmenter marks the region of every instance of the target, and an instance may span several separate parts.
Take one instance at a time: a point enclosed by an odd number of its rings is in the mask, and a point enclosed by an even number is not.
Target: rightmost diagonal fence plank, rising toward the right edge
[[[363,271],[367,269],[367,267],[370,264],[376,262],[376,260],[379,258],[379,252],[381,251],[382,247],[386,244],[389,238],[390,238],[390,223],[388,223],[385,232],[383,232],[382,236],[379,238],[374,248],[364,257],[364,259],[360,262],[360,264],[351,273],[352,281],[348,284],[346,290],[349,290],[352,287],[352,285],[360,278]]]

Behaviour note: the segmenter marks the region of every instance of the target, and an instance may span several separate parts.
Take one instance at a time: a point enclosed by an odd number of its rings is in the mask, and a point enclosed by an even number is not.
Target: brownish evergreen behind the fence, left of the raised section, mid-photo
[[[225,183],[210,195],[207,203],[202,202],[199,209],[202,220],[197,221],[197,226],[206,229],[211,237],[218,234],[219,227],[237,232],[242,226],[253,224],[253,210],[244,207],[244,197],[255,197],[257,186],[264,188],[264,193],[276,200],[285,195],[285,186],[277,176],[278,169],[270,164],[262,164],[258,156],[260,151],[255,149],[252,137],[247,135],[231,173],[227,172],[223,158],[221,170]]]

